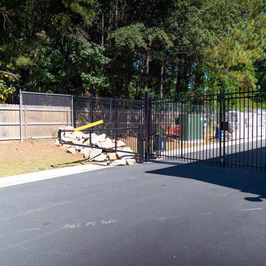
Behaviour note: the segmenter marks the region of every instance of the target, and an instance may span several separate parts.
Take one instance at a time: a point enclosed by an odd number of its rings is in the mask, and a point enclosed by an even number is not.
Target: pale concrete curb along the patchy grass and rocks
[[[16,176],[6,176],[0,178],[0,188],[5,186],[14,186],[44,179],[50,179],[54,177],[59,176],[67,176],[75,173],[83,173],[87,171],[92,171],[96,169],[102,169],[107,167],[113,167],[113,166],[107,166],[107,163],[90,163],[90,164],[84,164],[84,165],[77,165],[77,166],[69,166],[64,168],[58,168],[58,169],[52,169],[52,170],[46,170],[41,172],[35,172],[35,173],[27,173],[22,175],[16,175]]]

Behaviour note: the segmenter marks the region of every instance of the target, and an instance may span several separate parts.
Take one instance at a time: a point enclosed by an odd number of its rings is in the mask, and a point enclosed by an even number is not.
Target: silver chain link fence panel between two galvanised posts
[[[22,140],[55,138],[73,124],[72,96],[21,92]]]

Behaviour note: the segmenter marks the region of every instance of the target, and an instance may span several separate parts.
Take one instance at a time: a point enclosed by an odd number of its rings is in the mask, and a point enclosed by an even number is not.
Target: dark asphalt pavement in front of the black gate
[[[144,163],[0,188],[1,265],[265,265],[265,176]]]

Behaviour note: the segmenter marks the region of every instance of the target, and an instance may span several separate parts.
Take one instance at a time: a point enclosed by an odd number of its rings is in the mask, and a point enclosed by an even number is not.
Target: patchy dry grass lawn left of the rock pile
[[[70,154],[53,145],[55,140],[1,144],[0,177],[88,164],[80,153]]]

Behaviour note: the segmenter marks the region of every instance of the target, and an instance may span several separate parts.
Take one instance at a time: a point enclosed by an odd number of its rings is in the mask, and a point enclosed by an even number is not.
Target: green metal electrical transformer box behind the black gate
[[[203,115],[182,114],[179,115],[179,140],[202,140],[203,136]]]

